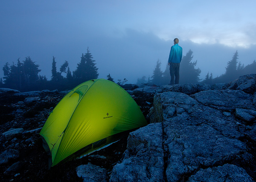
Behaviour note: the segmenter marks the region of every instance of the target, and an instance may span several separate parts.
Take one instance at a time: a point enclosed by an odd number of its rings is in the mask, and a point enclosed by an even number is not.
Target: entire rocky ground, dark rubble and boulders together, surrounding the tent
[[[256,180],[256,74],[211,86],[141,84],[126,89],[151,124],[50,170],[39,132],[66,93],[0,89],[0,180]]]

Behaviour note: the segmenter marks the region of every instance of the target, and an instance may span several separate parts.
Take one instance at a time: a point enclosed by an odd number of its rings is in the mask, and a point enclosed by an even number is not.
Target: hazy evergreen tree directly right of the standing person
[[[197,60],[192,62],[193,51],[189,49],[186,56],[182,57],[180,63],[180,83],[198,83],[200,81],[200,68],[195,68]]]

